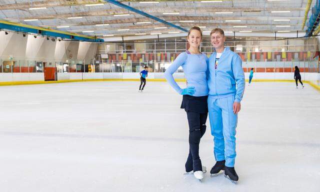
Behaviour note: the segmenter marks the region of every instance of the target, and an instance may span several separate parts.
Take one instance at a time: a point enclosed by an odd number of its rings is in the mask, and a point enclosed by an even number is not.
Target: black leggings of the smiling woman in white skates
[[[185,162],[185,171],[202,170],[202,164],[199,157],[199,143],[203,136],[206,126],[207,112],[198,113],[193,111],[186,112],[189,123],[189,155]]]

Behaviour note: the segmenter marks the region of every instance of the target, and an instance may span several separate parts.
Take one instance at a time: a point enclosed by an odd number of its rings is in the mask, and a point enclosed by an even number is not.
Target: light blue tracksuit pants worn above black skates
[[[235,127],[237,114],[233,113],[234,95],[224,98],[208,96],[208,111],[216,161],[225,159],[225,166],[234,167]]]

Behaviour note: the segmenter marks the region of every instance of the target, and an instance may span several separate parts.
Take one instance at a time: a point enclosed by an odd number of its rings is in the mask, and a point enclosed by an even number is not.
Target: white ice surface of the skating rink
[[[166,82],[95,81],[0,87],[0,191],[320,191],[320,92],[246,86],[235,170],[200,183],[181,95]],[[180,83],[183,86],[183,83]],[[214,164],[207,130],[202,164]]]

